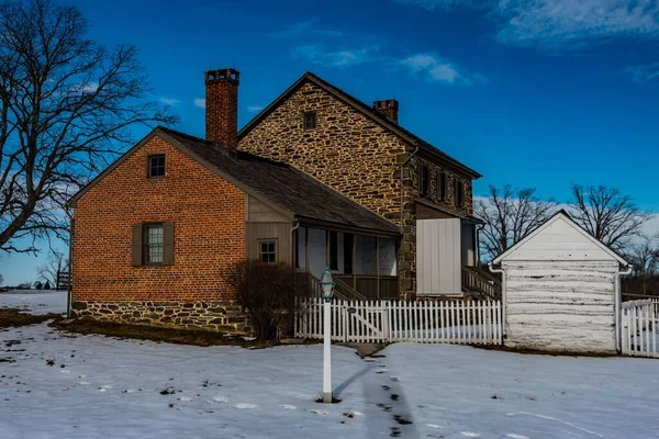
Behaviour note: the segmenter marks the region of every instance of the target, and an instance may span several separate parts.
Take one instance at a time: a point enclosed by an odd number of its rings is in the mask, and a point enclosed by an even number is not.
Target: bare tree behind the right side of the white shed
[[[615,250],[623,250],[650,218],[629,195],[617,188],[572,184],[570,215],[591,235]]]

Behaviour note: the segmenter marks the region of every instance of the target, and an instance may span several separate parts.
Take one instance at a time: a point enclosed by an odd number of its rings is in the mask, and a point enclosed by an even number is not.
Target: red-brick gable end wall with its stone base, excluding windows
[[[166,177],[147,179],[147,157],[163,153]],[[174,264],[133,267],[132,226],[165,222],[174,223]],[[81,316],[138,324],[194,327],[217,318],[210,329],[239,331],[245,322],[236,318],[235,293],[222,273],[244,258],[243,191],[154,137],[77,201],[72,307]],[[165,308],[182,302],[204,309],[203,317],[161,319]]]

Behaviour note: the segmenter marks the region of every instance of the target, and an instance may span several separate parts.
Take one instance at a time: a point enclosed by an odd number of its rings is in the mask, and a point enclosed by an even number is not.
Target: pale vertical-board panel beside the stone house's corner
[[[461,294],[460,219],[416,222],[416,293]]]

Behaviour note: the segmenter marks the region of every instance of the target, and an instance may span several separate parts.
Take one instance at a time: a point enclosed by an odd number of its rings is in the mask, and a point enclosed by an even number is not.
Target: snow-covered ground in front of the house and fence
[[[0,294],[0,307],[56,302],[37,296]],[[313,402],[320,345],[200,348],[5,329],[0,438],[659,436],[657,360],[413,344],[366,360],[348,348],[333,354],[344,401],[323,405]]]

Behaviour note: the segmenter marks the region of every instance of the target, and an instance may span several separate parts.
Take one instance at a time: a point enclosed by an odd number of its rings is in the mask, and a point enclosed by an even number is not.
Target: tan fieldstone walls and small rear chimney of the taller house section
[[[382,103],[376,102],[373,105],[387,117],[398,120],[398,102],[392,104],[391,101],[378,101]],[[303,116],[312,111],[316,112],[316,128],[305,131]],[[409,160],[403,169],[401,215],[401,165],[414,150],[412,145],[322,88],[308,82],[238,139],[238,149],[290,162],[399,226],[402,216],[403,236],[398,255],[399,290],[403,297],[414,295],[418,156]],[[435,179],[440,165],[431,165],[431,178]],[[447,177],[459,177],[453,171],[446,172]],[[456,210],[453,181],[449,180],[447,200],[438,202],[434,195],[434,201]],[[457,211],[470,214],[471,180],[462,177],[462,181],[465,206]],[[432,184],[436,194],[436,183]]]

